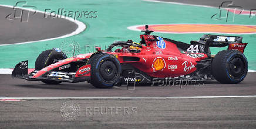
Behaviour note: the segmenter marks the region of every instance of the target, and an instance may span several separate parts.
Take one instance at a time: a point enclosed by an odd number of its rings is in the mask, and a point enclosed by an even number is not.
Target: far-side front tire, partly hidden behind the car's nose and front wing
[[[39,71],[47,67],[48,65],[53,64],[54,58],[63,59],[63,57],[61,57],[60,55],[55,55],[55,56],[52,56],[52,58],[49,58],[49,55],[51,53],[52,53],[52,50],[46,50],[38,55],[38,58],[36,58],[36,62],[35,62],[35,70]],[[53,81],[53,80],[42,80],[42,82],[50,85],[56,85],[61,83],[60,81]]]

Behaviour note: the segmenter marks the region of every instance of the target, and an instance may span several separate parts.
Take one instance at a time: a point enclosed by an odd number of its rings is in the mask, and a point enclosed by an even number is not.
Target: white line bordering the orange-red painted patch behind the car
[[[170,24],[153,24],[153,25],[233,25],[233,24],[197,24],[197,23],[170,23]],[[145,26],[145,25],[134,25],[129,26],[127,29],[134,30],[134,31],[141,31],[137,29],[137,27]],[[150,25],[149,25],[150,26]],[[256,26],[256,25],[234,25],[234,26]],[[190,33],[220,33],[220,32],[156,32],[156,33],[171,33],[171,34],[190,34]],[[220,34],[255,34],[256,32],[252,33],[220,33]]]

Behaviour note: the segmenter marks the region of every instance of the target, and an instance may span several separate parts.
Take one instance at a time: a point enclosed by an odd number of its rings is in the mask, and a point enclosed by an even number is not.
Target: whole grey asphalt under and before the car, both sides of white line
[[[217,81],[210,81],[203,86],[188,85],[182,88],[180,86],[136,86],[134,90],[132,90],[133,87],[127,90],[127,86],[97,89],[85,82],[45,85],[42,82],[12,79],[11,75],[0,75],[1,97],[39,97],[39,99],[20,99],[19,102],[0,101],[0,127],[255,128],[256,97],[40,99],[40,97],[255,95],[255,76],[256,72],[250,72],[245,80],[237,85],[223,85]],[[65,103],[75,103],[76,106],[67,106]],[[66,110],[61,110],[63,105]],[[132,108],[135,111],[132,111]],[[128,113],[125,109],[128,109]]]

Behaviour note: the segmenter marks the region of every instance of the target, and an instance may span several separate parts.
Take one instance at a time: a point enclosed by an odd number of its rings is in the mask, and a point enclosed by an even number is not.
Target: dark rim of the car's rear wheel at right
[[[241,58],[235,57],[230,61],[230,74],[234,78],[240,78],[244,74],[244,62]]]

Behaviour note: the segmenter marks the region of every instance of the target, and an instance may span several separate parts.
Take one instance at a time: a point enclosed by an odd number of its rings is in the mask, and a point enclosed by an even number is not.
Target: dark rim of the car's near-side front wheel
[[[99,74],[106,82],[112,82],[117,76],[116,65],[112,61],[103,61],[100,65]]]

